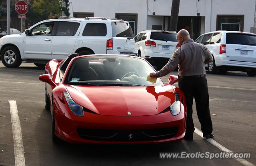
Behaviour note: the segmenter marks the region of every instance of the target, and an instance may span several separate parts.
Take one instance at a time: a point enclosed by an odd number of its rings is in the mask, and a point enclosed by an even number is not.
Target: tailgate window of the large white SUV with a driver
[[[111,24],[113,37],[134,37],[130,24],[124,22],[112,22]]]

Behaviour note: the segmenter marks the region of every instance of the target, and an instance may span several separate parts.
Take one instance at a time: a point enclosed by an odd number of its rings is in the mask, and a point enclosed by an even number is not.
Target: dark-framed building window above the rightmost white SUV
[[[216,30],[244,31],[244,15],[217,15]]]

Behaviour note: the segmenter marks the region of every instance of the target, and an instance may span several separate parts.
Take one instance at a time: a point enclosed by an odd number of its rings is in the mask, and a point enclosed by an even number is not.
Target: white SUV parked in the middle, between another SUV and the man
[[[138,56],[161,69],[176,48],[179,48],[176,34],[162,30],[144,30],[134,38],[135,50],[138,50]]]

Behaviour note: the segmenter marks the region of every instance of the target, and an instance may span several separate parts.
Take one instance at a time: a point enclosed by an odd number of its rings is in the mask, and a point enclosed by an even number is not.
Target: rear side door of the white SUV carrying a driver
[[[73,53],[82,24],[79,21],[56,22],[57,28],[51,44],[52,58],[63,60]]]

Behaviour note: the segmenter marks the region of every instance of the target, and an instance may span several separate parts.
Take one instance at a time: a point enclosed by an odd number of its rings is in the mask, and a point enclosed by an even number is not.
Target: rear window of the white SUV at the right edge
[[[256,46],[256,36],[252,34],[227,33],[226,44]]]

